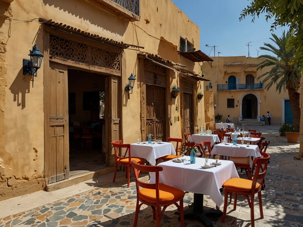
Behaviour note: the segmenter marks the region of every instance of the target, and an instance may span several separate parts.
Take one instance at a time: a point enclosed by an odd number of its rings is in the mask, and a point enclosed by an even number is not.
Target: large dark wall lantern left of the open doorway
[[[44,55],[40,52],[39,48],[35,44],[33,50],[30,50],[29,56],[31,59],[23,59],[23,75],[33,76],[34,87],[34,77],[37,76],[37,70],[41,67]]]

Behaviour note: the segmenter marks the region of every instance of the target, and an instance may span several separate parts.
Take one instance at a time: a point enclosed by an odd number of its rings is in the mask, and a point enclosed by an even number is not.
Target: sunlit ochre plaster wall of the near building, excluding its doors
[[[125,49],[123,53],[125,67],[121,71],[119,94],[122,101],[119,109],[122,119],[121,139],[124,142],[135,142],[142,133],[140,90],[143,84],[140,77],[143,75],[139,74],[139,51],[159,55],[186,65],[187,70],[201,73],[198,63],[177,53],[180,37],[186,38],[196,50],[200,49],[200,29],[170,0],[141,0],[141,19],[135,22],[121,19],[83,0],[0,2],[1,12],[4,12],[0,27],[0,200],[43,190],[45,187],[43,72],[45,67],[49,67],[49,62],[44,59],[37,72],[38,76],[34,79],[34,86],[32,77],[24,76],[22,72],[22,59],[29,58],[29,49],[34,44],[37,44],[42,53],[47,51],[43,49],[44,25],[38,23],[36,18],[51,19],[81,31],[144,47]],[[137,80],[133,94],[128,99],[124,88],[131,73]],[[167,108],[172,122],[168,126],[168,135],[172,137],[182,136],[181,97],[170,98],[172,86],[182,86],[180,76],[172,70],[168,72]],[[204,93],[205,86],[202,82],[193,82],[197,84],[194,96],[197,92]],[[206,115],[212,118],[213,114],[204,111],[208,102],[212,102],[212,97],[206,94],[205,100],[196,102],[197,128],[204,124]],[[179,116],[179,121],[175,122],[174,116]]]

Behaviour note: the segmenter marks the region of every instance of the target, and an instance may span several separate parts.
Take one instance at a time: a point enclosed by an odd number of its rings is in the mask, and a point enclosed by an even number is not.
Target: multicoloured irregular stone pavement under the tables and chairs
[[[267,152],[271,155],[262,191],[264,219],[260,219],[258,202],[254,200],[255,226],[303,227],[303,160],[294,160],[299,143],[290,144],[279,136],[279,125],[250,127],[263,132],[270,141]],[[240,177],[244,173],[239,172]],[[113,173],[54,192],[36,192],[0,202],[0,226],[31,227],[129,227],[135,217],[136,192],[134,178],[126,187],[124,173],[119,172],[113,183]],[[143,176],[148,178],[148,176]],[[223,194],[222,194],[223,195]],[[186,207],[193,202],[193,194],[185,194]],[[204,209],[215,208],[214,202],[204,196]],[[250,210],[244,197],[238,197],[237,209],[228,206],[225,223],[212,220],[215,227],[250,226]],[[221,205],[220,209],[223,209]],[[168,207],[162,220],[163,227],[180,226],[174,206]],[[152,211],[141,207],[138,227],[152,227]],[[185,227],[199,227],[198,220],[185,219]]]

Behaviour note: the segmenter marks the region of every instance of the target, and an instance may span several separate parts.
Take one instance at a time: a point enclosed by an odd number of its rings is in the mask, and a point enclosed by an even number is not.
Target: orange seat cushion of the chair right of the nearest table
[[[226,190],[250,192],[252,191],[253,180],[244,178],[230,178],[224,184],[223,187]],[[256,183],[256,191],[260,189],[261,185]]]

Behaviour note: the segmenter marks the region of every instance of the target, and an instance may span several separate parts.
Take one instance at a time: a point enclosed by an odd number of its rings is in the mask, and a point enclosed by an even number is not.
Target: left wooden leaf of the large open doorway
[[[69,178],[67,66],[50,62],[44,72],[46,184]]]

